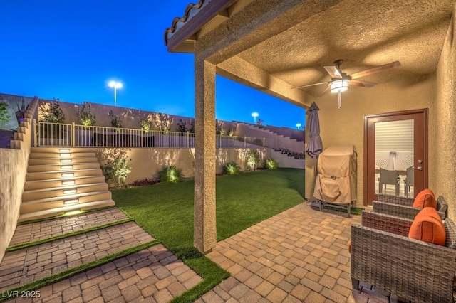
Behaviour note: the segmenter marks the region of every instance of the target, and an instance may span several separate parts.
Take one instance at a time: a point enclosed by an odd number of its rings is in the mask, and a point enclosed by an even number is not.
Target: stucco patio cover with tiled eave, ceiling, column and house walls
[[[182,8],[184,9],[184,8]],[[426,126],[423,186],[445,196],[455,218],[455,1],[219,0],[189,4],[165,31],[171,52],[195,54],[195,247],[209,252],[215,233],[215,75],[304,108],[320,108],[323,148],[358,151],[356,206],[369,206],[366,117],[422,110]],[[348,75],[399,61],[338,97],[324,66],[343,59]],[[309,119],[307,119],[309,120]],[[422,163],[420,162],[420,163]],[[415,164],[416,165],[416,164]],[[306,198],[316,160],[306,157]],[[304,184],[303,184],[304,186]]]

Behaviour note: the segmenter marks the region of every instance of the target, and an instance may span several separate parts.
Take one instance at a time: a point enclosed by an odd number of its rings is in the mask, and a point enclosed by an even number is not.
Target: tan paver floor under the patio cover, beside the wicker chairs
[[[360,221],[302,203],[220,241],[207,257],[232,277],[198,302],[357,302],[348,242]]]

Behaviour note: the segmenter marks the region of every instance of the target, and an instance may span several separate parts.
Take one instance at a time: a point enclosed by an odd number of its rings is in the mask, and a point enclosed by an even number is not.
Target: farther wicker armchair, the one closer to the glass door
[[[386,215],[398,216],[413,220],[421,211],[421,208],[413,207],[414,198],[406,198],[400,196],[378,195],[378,201],[372,202],[374,213],[384,213]],[[437,213],[440,218],[445,220],[447,216],[448,204],[445,198],[439,196],[437,198]]]

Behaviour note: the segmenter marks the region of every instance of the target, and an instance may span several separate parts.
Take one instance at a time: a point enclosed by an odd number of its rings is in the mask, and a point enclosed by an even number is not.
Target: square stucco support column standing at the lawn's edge
[[[195,54],[195,223],[193,245],[217,243],[215,218],[215,65]]]

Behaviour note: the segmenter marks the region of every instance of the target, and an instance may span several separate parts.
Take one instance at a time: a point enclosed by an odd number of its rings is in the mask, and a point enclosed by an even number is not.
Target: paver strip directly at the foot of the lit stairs
[[[9,245],[28,243],[56,235],[71,233],[95,226],[113,223],[128,218],[119,208],[107,208],[100,211],[90,211],[79,216],[63,217],[36,223],[18,225]]]

